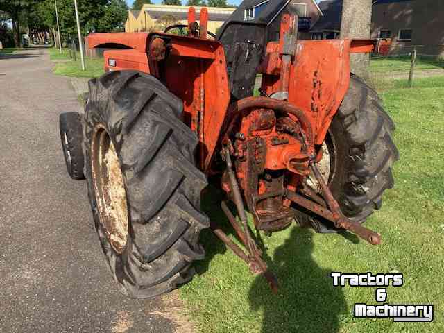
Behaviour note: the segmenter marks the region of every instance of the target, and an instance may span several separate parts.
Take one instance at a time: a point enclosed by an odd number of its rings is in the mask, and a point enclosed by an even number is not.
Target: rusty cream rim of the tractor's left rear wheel
[[[94,128],[91,163],[100,222],[112,248],[120,254],[128,241],[126,189],[116,149],[101,125]]]

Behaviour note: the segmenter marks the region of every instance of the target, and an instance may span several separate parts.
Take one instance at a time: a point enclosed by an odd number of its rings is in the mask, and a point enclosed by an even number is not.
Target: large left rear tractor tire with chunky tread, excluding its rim
[[[182,101],[159,80],[138,71],[112,71],[89,80],[83,123],[89,200],[114,280],[132,298],[149,298],[191,280],[203,259],[200,212],[207,179],[195,164],[196,135],[180,117]],[[100,222],[92,180],[93,129],[101,123],[116,149],[128,202],[128,241],[112,248]]]

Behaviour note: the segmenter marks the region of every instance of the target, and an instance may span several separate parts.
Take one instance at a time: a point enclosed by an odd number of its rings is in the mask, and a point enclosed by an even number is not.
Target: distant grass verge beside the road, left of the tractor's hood
[[[80,53],[77,53],[77,60],[74,61],[69,58],[69,50],[62,49],[62,53],[58,49],[50,49],[51,60],[56,61],[56,66],[53,69],[54,74],[62,76],[75,76],[77,78],[96,78],[105,73],[103,69],[103,58],[87,58],[85,57],[86,70],[82,70],[80,62]]]

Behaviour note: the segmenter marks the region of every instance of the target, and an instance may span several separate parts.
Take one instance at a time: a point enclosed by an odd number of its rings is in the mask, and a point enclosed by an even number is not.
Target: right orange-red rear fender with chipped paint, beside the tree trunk
[[[350,53],[368,53],[374,40],[300,40],[290,69],[289,103],[309,114],[322,144],[334,114],[350,85]],[[279,42],[268,43],[259,67],[262,90],[271,95],[280,88]]]

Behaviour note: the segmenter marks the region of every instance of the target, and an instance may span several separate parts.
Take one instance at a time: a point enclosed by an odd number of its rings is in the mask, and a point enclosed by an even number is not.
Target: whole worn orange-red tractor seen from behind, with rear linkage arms
[[[273,290],[259,232],[296,221],[379,244],[361,223],[393,187],[395,126],[375,90],[350,74],[350,53],[375,42],[297,40],[295,22],[283,15],[279,42],[266,43],[265,24],[234,21],[214,39],[206,9],[199,26],[190,8],[187,35],[88,37],[90,48],[108,49],[107,73],[89,80],[85,114],[60,117],[62,146],[71,177],[87,179],[105,259],[129,296],[188,282],[205,255],[204,228]],[[200,210],[209,179],[236,207],[239,219],[221,202],[244,246]]]

